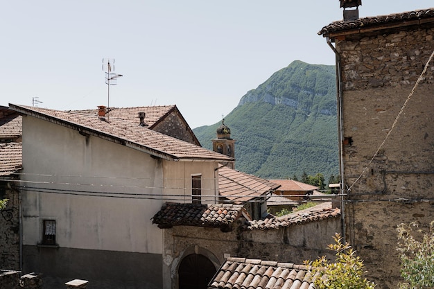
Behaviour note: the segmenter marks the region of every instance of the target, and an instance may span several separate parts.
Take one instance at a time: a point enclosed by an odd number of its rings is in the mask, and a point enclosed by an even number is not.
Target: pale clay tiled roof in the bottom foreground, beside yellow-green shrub
[[[313,277],[306,265],[228,258],[209,282],[208,288],[313,289],[313,281],[318,275]]]

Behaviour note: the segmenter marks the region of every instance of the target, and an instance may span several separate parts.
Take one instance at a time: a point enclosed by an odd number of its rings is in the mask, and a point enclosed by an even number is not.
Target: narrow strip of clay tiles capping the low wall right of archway
[[[306,222],[313,222],[325,220],[327,218],[335,218],[340,216],[340,209],[333,208],[331,202],[324,202],[315,207],[289,213],[288,215],[266,218],[265,220],[252,220],[248,222],[248,229],[279,229],[281,227],[290,227],[292,225],[303,224]]]

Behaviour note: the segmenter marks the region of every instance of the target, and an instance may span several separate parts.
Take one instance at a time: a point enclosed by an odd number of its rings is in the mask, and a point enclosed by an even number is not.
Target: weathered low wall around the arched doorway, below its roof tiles
[[[229,256],[302,263],[324,254],[332,256],[326,248],[340,232],[340,218],[263,231],[242,229],[243,221],[239,218],[234,229],[226,233],[209,227],[164,229],[164,288],[177,288],[177,266],[192,252],[218,263],[216,268]]]

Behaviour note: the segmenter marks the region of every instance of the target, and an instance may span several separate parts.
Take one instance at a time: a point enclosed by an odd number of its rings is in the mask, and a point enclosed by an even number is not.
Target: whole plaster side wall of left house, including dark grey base
[[[23,131],[23,272],[161,288],[162,230],[150,218],[162,207],[164,161],[31,116]],[[58,247],[39,245],[44,219],[55,220]]]

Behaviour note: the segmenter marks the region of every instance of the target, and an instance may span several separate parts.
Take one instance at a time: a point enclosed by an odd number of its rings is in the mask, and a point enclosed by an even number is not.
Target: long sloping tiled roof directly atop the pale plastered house
[[[93,134],[125,146],[148,152],[150,155],[172,160],[210,160],[232,161],[231,157],[207,150],[180,139],[169,137],[166,134],[155,132],[140,125],[133,125],[128,121],[110,119],[103,121],[93,115],[75,112],[62,112],[40,107],[24,105],[10,105],[12,110],[28,114],[53,123]]]

